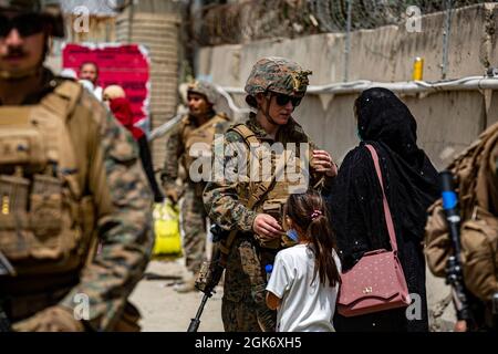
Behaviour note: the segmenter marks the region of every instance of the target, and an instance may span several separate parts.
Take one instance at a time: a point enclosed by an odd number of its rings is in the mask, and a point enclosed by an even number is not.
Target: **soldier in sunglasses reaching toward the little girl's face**
[[[228,129],[222,147],[215,145],[215,158],[220,158],[215,164],[225,169],[230,165],[263,166],[267,163],[271,164],[268,170],[273,171],[255,175],[251,169],[249,178],[215,178],[204,191],[211,220],[225,230],[237,230],[237,237],[226,247],[228,259],[221,305],[226,331],[276,331],[276,313],[264,301],[264,269],[273,263],[282,247],[292,244],[284,236],[283,204],[291,192],[304,192],[308,187],[329,188],[336,175],[329,153],[318,149],[292,117],[305,94],[310,74],[283,58],[259,60],[245,87],[246,101],[255,112],[246,123]],[[279,144],[283,149],[277,148]],[[236,159],[247,160],[239,165],[234,164],[234,157],[225,157],[224,152],[230,146],[237,146],[237,154],[232,154]],[[250,153],[247,153],[249,147]],[[258,154],[252,154],[255,147]],[[292,174],[288,173],[293,168],[305,184],[295,186],[295,178],[291,180]],[[277,170],[286,171],[283,178],[279,179]]]

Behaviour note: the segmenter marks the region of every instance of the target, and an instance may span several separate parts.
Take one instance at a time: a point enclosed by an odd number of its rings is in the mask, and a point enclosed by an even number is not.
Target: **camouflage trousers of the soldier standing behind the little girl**
[[[271,252],[273,253],[273,252]],[[226,332],[274,332],[277,312],[266,303],[266,254],[249,239],[234,242],[225,273],[221,319]]]

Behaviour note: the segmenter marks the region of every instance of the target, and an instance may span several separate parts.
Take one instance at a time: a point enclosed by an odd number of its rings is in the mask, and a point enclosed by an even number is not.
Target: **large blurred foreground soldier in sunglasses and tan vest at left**
[[[151,190],[132,136],[43,66],[50,37],[63,37],[56,7],[0,0],[2,327],[137,330],[127,298],[152,250]]]

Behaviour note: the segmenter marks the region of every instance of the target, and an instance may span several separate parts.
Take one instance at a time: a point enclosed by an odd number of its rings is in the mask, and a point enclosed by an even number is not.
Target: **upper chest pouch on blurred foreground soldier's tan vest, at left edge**
[[[40,132],[32,127],[0,129],[0,166],[12,174],[14,166],[27,166],[27,171],[39,171],[46,163]]]

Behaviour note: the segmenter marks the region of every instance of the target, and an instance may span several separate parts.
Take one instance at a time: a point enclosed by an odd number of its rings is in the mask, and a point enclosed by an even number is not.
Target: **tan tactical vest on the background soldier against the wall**
[[[183,156],[183,165],[188,173],[191,163],[201,156],[203,158],[211,158],[211,144],[215,140],[215,134],[224,133],[220,129],[224,123],[229,119],[225,114],[217,114],[205,124],[195,127],[188,124],[189,117],[185,117],[181,122],[181,142],[185,144],[185,153]],[[206,148],[206,147],[209,148]]]

